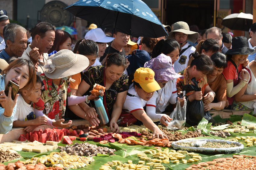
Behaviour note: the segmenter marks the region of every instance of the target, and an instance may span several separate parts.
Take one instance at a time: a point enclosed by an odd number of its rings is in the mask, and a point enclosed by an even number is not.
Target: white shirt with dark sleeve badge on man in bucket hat
[[[188,48],[189,43],[187,42],[183,47],[181,47],[180,51],[182,49]],[[196,50],[195,47],[191,46],[186,51],[184,51],[182,54],[180,54],[179,58],[177,61],[174,63],[174,70],[176,73],[185,70],[188,66],[188,60],[189,60],[189,55],[191,53],[194,53]]]

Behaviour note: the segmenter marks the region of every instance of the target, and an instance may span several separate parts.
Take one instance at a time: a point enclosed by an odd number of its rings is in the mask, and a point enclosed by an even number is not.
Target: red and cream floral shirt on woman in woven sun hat
[[[69,80],[62,78],[60,85],[55,85],[52,79],[47,78],[44,73],[40,75],[40,78],[42,80],[42,95],[33,107],[43,110],[43,113],[50,119],[64,119],[66,100],[71,96]]]

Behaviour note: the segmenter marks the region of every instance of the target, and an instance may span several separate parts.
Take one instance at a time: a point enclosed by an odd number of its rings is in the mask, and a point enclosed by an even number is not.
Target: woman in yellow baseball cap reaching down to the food
[[[130,113],[148,129],[153,131],[153,137],[167,138],[143,109],[145,106],[156,107],[156,100],[150,100],[152,97],[157,98],[157,94],[154,92],[160,89],[154,76],[154,71],[149,68],[139,68],[135,71],[134,79],[132,80],[133,83],[129,87],[123,105],[124,112],[120,116],[120,122],[126,124],[124,122],[125,118],[122,115],[126,113],[125,117],[127,117],[127,113]]]

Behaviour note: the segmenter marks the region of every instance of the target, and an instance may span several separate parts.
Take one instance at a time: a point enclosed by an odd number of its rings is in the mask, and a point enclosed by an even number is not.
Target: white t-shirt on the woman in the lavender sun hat
[[[171,90],[172,89],[172,90]],[[163,88],[157,90],[158,96],[156,99],[156,114],[164,112],[169,104],[175,104],[177,98],[176,79],[168,81]],[[155,92],[155,93],[157,93]],[[151,99],[150,99],[151,100]]]

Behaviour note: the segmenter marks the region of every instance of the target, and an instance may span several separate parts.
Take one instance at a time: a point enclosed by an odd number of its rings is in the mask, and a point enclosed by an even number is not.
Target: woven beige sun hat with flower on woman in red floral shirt
[[[88,66],[89,60],[84,55],[62,49],[46,60],[44,74],[52,79],[65,78],[80,73]]]

